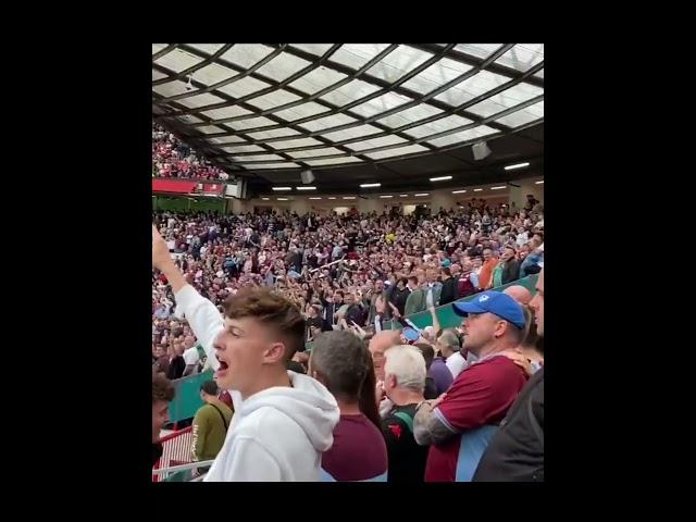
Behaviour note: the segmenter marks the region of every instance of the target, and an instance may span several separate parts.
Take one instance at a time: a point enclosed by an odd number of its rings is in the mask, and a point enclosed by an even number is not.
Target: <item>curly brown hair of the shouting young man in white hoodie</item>
[[[274,328],[286,341],[286,360],[291,359],[304,344],[304,318],[299,308],[270,288],[241,288],[227,298],[224,314],[227,319],[253,318]]]

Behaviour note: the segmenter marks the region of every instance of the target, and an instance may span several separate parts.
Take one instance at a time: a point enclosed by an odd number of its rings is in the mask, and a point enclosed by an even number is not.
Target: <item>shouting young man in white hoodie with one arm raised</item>
[[[286,370],[303,343],[297,307],[266,288],[244,289],[227,300],[223,319],[186,283],[154,227],[152,265],[172,285],[219,386],[234,401],[225,444],[204,480],[318,481],[339,411],[322,384]]]

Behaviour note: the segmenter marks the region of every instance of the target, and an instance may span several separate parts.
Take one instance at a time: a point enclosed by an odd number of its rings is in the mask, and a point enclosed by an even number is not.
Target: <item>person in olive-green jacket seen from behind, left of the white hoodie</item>
[[[213,460],[225,442],[233,412],[232,408],[217,398],[217,394],[214,381],[206,381],[200,387],[200,398],[204,405],[198,409],[194,418],[194,462]]]

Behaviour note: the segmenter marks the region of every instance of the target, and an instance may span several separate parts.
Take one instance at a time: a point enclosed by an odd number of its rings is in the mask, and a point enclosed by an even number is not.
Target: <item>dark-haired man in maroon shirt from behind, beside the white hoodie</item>
[[[374,403],[371,357],[364,343],[348,332],[325,332],[313,346],[309,372],[336,398],[340,420],[334,444],[322,456],[322,481],[386,482],[387,451],[380,421],[360,410],[360,397]]]

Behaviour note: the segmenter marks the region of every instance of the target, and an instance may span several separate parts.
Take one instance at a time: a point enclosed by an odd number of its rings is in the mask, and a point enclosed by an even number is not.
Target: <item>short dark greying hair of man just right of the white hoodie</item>
[[[355,399],[372,369],[371,355],[350,332],[324,332],[314,339],[311,366],[322,374],[334,397]]]

